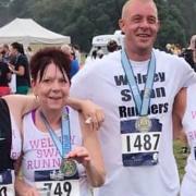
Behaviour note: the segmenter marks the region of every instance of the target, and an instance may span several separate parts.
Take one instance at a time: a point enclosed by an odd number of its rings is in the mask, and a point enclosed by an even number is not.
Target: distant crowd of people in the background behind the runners
[[[182,48],[179,44],[167,44],[166,51],[183,57],[196,71],[196,36],[192,36],[189,46]],[[106,54],[121,49],[115,40],[109,40],[107,51],[101,46],[94,48],[85,63],[102,59]],[[82,54],[77,45],[62,45],[61,50],[70,54],[72,66],[71,77],[75,75],[83,66]],[[0,96],[9,94],[24,94],[30,91],[29,61],[34,54],[33,49],[28,46],[26,50],[20,42],[13,42],[10,46],[3,44],[0,46]]]

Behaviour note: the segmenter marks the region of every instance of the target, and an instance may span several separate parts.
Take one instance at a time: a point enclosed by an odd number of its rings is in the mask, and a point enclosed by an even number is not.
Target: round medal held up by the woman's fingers
[[[74,160],[63,159],[60,170],[64,174],[64,176],[71,177],[77,173],[77,166]]]

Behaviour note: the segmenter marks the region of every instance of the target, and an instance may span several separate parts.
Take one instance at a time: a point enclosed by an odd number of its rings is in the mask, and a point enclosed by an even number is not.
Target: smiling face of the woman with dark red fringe
[[[65,105],[70,91],[68,75],[59,70],[54,63],[50,63],[40,77],[33,81],[33,90],[38,96],[40,107],[47,110],[61,110]]]

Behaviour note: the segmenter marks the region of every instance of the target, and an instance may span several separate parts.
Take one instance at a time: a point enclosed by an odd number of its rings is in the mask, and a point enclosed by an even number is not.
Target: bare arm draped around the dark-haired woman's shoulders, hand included
[[[28,111],[38,107],[38,101],[32,95],[9,95],[4,96],[11,113],[13,114],[19,127],[21,127],[22,117]],[[73,107],[83,113],[87,123],[93,123],[95,128],[98,128],[103,122],[105,115],[101,108],[89,100],[69,98],[66,105]]]

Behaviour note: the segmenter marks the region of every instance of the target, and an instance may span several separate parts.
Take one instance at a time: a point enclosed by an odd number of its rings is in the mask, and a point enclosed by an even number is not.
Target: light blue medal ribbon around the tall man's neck
[[[148,107],[150,105],[150,95],[151,95],[151,89],[154,85],[155,72],[156,72],[155,53],[151,52],[151,58],[148,63],[147,79],[146,79],[146,84],[144,88],[143,98],[140,96],[138,85],[134,77],[132,64],[126,56],[124,48],[122,49],[122,53],[121,53],[121,63],[124,69],[125,75],[127,77],[128,86],[132,90],[133,98],[137,107],[137,111],[139,112],[139,115],[147,115]]]

